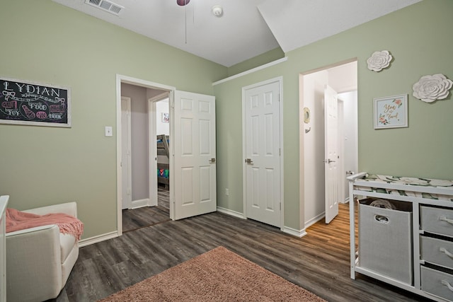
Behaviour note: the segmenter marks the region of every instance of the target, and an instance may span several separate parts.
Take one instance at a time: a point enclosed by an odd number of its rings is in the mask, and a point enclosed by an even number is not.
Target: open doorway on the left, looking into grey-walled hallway
[[[123,214],[134,215],[138,225],[127,228],[139,228],[151,215],[147,208],[157,206],[159,194],[156,178],[156,101],[170,100],[175,88],[158,83],[151,83],[127,76],[117,76],[117,233],[123,232]],[[120,99],[120,100],[118,100]],[[118,103],[121,102],[121,103]],[[127,105],[123,105],[123,103]],[[120,106],[121,105],[121,106]],[[166,111],[167,120],[171,112]],[[127,110],[127,112],[123,112]],[[168,129],[169,129],[168,123]],[[169,132],[168,132],[169,134]],[[127,146],[129,145],[129,146]],[[124,154],[126,153],[126,154]],[[129,159],[127,163],[127,159]],[[125,163],[123,163],[126,161]],[[170,163],[168,163],[168,174]],[[126,171],[125,171],[126,170]],[[129,170],[129,172],[127,172]],[[124,180],[126,178],[127,180]],[[126,202],[123,199],[127,197]],[[171,191],[164,194],[166,204],[170,204]],[[169,207],[161,213],[159,219],[171,219]],[[141,209],[132,214],[132,209]],[[153,214],[152,219],[156,218]],[[124,231],[128,231],[125,229]]]

